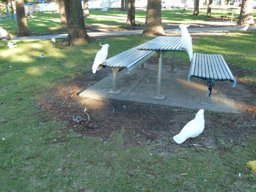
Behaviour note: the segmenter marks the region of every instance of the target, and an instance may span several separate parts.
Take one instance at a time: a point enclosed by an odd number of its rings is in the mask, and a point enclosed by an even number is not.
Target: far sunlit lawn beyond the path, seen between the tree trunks
[[[202,20],[211,21],[214,17],[220,18],[221,15],[227,15],[227,10],[212,10],[212,17],[205,16],[206,10],[200,10],[200,15],[194,16],[192,10],[186,10],[182,15],[180,10],[163,10],[162,21],[164,23],[180,23],[180,22],[200,22]],[[232,10],[236,12],[234,14],[234,21],[239,16],[239,10]],[[253,12],[255,13],[255,12]],[[84,19],[86,25],[90,24],[103,24],[106,26],[124,26],[127,19],[127,12],[118,9],[109,10],[108,12],[102,12],[101,10],[90,10],[91,18]],[[256,15],[256,14],[254,14]],[[256,17],[256,16],[255,16]],[[136,23],[144,24],[146,18],[146,12],[143,10],[136,10]],[[256,18],[255,18],[256,19]],[[60,33],[67,31],[66,27],[60,25],[60,14],[52,12],[38,12],[33,13],[33,18],[27,19],[29,31],[31,35],[37,35],[42,33]],[[0,24],[8,31],[12,36],[17,34],[17,23],[15,20],[1,20]]]

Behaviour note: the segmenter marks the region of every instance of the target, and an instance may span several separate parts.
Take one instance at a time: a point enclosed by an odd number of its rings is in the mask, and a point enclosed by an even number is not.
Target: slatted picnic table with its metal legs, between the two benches
[[[172,71],[174,69],[175,51],[186,51],[182,47],[180,36],[157,36],[156,38],[138,46],[139,50],[156,51],[158,56],[157,66],[157,86],[156,93],[152,99],[164,99],[165,95],[161,94],[161,76],[163,52],[172,51]]]

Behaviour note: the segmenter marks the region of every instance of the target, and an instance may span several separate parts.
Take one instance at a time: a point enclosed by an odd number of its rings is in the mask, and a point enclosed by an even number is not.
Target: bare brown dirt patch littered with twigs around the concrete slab
[[[239,72],[238,70],[234,73]],[[158,152],[175,152],[175,149],[180,146],[173,143],[172,137],[195,118],[196,111],[145,106],[145,104],[122,100],[93,100],[77,97],[77,93],[108,76],[109,73],[110,70],[107,69],[97,72],[97,76],[86,73],[67,84],[61,84],[54,88],[41,103],[38,103],[38,108],[51,114],[52,120],[63,121],[60,131],[72,130],[77,134],[100,136],[102,140],[111,138],[115,132],[122,132],[124,146],[140,146],[141,143],[145,143],[142,141],[147,141],[148,145]],[[241,89],[241,86],[239,87]],[[252,86],[243,85],[242,90],[239,91],[246,93],[244,90],[249,90],[255,95],[255,89]],[[228,150],[230,147],[241,144],[243,138],[256,134],[255,97],[248,98],[245,94],[235,96],[237,96],[235,99],[246,98],[245,101],[251,107],[244,109],[241,114],[205,111],[204,132],[200,137],[181,146],[191,147],[191,143],[196,143],[202,148],[216,147],[220,150]],[[83,113],[84,108],[90,116],[89,121],[86,113]],[[80,116],[83,121],[76,124],[72,116]],[[58,138],[52,142],[61,141],[62,139]]]

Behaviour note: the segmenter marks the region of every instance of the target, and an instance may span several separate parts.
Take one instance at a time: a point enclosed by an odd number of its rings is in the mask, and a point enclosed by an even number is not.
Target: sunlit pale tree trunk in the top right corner
[[[252,0],[243,0],[237,25],[254,25],[252,15]]]

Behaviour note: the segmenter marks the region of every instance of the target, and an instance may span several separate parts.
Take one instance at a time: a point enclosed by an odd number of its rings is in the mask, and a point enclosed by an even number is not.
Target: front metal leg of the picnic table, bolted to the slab
[[[158,66],[157,66],[157,84],[156,84],[156,94],[154,94],[152,99],[163,100],[165,95],[161,94],[161,76],[162,76],[162,61],[163,61],[163,51],[158,52]]]

